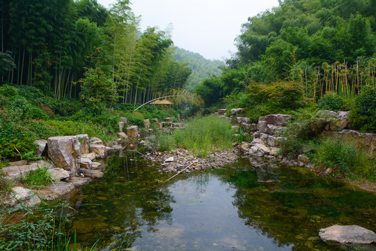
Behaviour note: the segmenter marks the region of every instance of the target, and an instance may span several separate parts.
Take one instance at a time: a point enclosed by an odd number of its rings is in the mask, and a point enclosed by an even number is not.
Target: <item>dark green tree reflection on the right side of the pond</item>
[[[320,228],[335,223],[366,222],[362,215],[375,210],[376,205],[375,196],[340,188],[336,182],[328,185],[313,174],[291,170],[285,173],[265,166],[237,167],[221,172],[221,178],[235,188],[233,205],[244,224],[274,239],[280,247],[294,245],[292,250],[311,250],[312,246],[340,250],[338,246],[329,247],[308,238],[318,236]],[[371,229],[372,222],[375,220],[368,222]]]

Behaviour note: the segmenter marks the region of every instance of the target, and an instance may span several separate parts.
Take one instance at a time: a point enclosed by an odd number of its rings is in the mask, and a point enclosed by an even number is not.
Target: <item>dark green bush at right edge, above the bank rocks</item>
[[[350,109],[351,125],[363,132],[376,132],[376,88],[363,86]]]

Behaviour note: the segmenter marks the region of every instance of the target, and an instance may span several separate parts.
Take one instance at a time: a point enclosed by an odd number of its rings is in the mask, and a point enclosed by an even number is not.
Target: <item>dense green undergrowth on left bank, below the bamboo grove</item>
[[[48,91],[33,86],[0,86],[0,165],[10,160],[35,160],[36,139],[88,134],[104,142],[116,139],[118,121],[125,116],[129,125],[144,127],[143,119],[176,116],[181,110],[145,106],[132,112],[134,105],[91,104],[80,100],[58,100]]]

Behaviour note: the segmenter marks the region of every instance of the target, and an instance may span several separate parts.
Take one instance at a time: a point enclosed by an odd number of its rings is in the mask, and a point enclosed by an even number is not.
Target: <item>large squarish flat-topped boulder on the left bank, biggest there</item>
[[[49,137],[48,157],[56,167],[70,171],[70,174],[79,172],[79,158],[81,158],[81,144],[76,136]]]

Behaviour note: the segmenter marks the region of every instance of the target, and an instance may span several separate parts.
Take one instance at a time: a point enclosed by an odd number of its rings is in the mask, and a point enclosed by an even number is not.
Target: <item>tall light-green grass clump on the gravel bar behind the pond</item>
[[[173,139],[175,146],[198,156],[230,149],[234,141],[230,121],[217,116],[192,119],[185,125],[185,129],[174,132]]]

